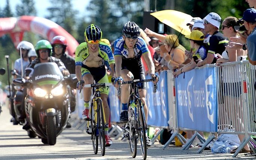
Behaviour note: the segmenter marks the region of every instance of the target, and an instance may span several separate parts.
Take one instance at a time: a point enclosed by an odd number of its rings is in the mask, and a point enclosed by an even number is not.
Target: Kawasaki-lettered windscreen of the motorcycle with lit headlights
[[[38,63],[31,77],[38,85],[56,85],[63,78],[58,65],[54,62]]]

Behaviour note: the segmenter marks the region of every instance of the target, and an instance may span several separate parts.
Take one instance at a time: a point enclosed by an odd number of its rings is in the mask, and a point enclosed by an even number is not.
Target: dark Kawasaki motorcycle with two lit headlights
[[[74,85],[77,78],[74,74],[63,77],[56,63],[47,62],[36,64],[29,80],[13,82],[27,88],[25,111],[31,129],[42,143],[55,145],[70,115],[68,85]]]

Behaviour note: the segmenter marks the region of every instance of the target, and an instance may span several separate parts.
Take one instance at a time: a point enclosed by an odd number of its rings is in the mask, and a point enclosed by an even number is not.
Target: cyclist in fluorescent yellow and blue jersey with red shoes
[[[114,57],[110,46],[101,42],[101,29],[91,24],[84,32],[85,42],[77,46],[75,50],[75,73],[78,79],[77,88],[80,89],[84,84],[108,83],[108,76],[105,70],[105,64],[110,66],[111,75],[114,74]],[[108,120],[110,110],[108,107],[108,87],[101,88],[101,99],[103,102],[107,126],[105,127],[106,147],[112,144],[108,135]],[[91,88],[83,88],[84,111],[83,118],[89,119],[89,102],[92,93]],[[90,134],[89,128],[87,133]]]

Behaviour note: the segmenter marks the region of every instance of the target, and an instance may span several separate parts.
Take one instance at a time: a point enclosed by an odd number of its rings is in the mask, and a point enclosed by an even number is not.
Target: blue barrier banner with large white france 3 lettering
[[[190,70],[175,79],[179,127],[217,132],[215,75],[215,68],[210,67]]]

